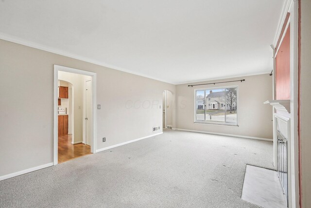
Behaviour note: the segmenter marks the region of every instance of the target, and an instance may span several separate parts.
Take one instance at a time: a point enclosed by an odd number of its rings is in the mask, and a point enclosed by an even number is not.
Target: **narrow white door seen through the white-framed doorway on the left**
[[[86,145],[92,141],[92,81],[86,81]]]

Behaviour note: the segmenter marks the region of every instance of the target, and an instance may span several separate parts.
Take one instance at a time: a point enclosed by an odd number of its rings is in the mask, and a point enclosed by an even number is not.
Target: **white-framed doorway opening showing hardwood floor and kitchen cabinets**
[[[95,153],[96,74],[54,65],[54,165]]]

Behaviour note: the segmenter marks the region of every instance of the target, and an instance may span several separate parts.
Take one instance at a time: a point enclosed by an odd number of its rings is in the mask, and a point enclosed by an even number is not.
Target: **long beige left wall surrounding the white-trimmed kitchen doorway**
[[[162,92],[175,92],[172,84],[5,40],[0,49],[0,176],[53,161],[54,64],[97,73],[97,149],[156,133]]]

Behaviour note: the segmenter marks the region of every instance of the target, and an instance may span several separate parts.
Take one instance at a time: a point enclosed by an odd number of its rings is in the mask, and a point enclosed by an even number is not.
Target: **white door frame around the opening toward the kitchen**
[[[84,70],[69,68],[66,66],[60,66],[54,64],[54,125],[53,125],[53,137],[54,137],[54,146],[53,146],[53,164],[58,164],[58,71],[69,72],[79,75],[91,76],[92,80],[92,145],[91,152],[96,153],[96,73],[88,72]]]

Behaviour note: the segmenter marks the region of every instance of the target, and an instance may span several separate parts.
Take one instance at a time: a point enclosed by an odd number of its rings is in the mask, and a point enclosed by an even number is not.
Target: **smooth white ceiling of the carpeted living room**
[[[269,73],[284,0],[0,0],[0,38],[173,84]]]

